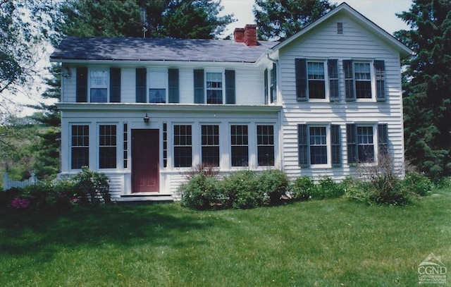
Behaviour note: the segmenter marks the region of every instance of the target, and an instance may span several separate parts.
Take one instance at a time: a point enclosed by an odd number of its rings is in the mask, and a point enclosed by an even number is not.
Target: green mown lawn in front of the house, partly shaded
[[[1,210],[0,286],[418,286],[431,252],[451,270],[451,191],[434,193],[408,207]]]

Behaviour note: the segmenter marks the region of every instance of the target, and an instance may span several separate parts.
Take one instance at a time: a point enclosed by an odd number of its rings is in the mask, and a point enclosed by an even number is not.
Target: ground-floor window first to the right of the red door
[[[192,128],[190,125],[174,126],[174,166],[192,166]]]

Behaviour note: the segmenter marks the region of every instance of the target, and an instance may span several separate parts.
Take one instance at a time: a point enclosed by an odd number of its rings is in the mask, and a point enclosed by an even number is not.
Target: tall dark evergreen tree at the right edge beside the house
[[[404,72],[406,158],[433,178],[451,175],[451,1],[414,0],[395,36],[414,51]]]

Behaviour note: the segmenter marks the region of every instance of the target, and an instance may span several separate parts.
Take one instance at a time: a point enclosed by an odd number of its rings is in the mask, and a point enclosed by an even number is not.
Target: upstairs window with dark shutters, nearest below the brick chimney
[[[235,104],[235,71],[193,71],[195,104]]]

